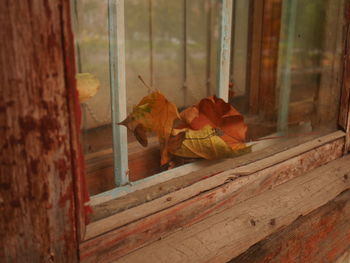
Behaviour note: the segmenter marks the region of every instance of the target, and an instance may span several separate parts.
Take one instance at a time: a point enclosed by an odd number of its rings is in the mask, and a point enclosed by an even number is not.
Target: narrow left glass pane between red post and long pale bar
[[[78,73],[100,83],[94,96],[81,103],[82,145],[90,194],[115,187],[113,177],[109,78],[108,1],[74,0],[72,15]],[[82,78],[91,75],[81,75]]]

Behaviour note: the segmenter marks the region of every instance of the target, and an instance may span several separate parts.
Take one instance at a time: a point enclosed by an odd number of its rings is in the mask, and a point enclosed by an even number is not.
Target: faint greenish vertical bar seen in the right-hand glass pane
[[[284,36],[283,41],[280,41],[279,52],[279,68],[278,68],[278,87],[279,87],[279,111],[277,129],[279,132],[287,131],[288,129],[288,111],[289,111],[289,99],[291,89],[291,68],[293,57],[293,46],[295,36],[295,24],[296,24],[296,11],[298,0],[283,1],[282,9],[282,26],[281,31],[285,31],[285,34],[281,32],[281,36]],[[285,43],[283,43],[285,42]],[[281,61],[281,58],[284,58]]]

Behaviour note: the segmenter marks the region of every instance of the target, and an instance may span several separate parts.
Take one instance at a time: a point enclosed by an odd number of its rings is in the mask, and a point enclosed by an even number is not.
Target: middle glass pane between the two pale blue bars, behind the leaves
[[[179,111],[215,93],[220,1],[125,2],[127,109],[148,94],[139,76]],[[143,148],[130,133],[129,177],[164,171],[155,134]],[[140,154],[142,152],[143,154]]]

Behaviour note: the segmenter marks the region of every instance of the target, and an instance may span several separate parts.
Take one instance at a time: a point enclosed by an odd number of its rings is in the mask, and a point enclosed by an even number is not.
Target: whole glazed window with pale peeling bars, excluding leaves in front
[[[179,110],[211,94],[229,101],[245,117],[255,159],[338,129],[343,0],[72,0],[72,7],[78,71],[100,82],[81,105],[87,182],[100,205],[93,220],[181,189],[198,178],[180,176],[218,165],[164,171],[156,138],[144,149],[116,125],[147,94],[138,75]],[[163,187],[170,179],[178,181]],[[104,202],[146,187],[162,190],[102,211]]]

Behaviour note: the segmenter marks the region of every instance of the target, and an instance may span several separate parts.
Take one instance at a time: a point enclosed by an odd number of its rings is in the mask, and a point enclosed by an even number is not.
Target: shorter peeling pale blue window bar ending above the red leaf
[[[218,49],[217,96],[228,101],[233,0],[221,1],[220,46]]]

